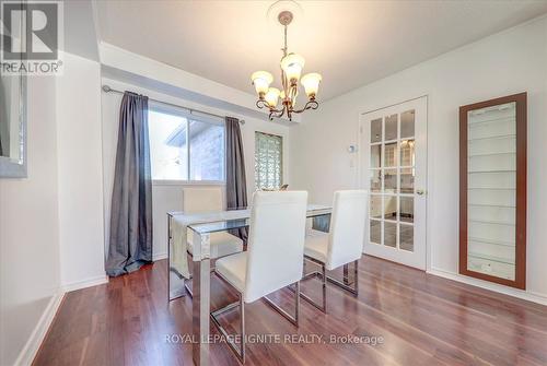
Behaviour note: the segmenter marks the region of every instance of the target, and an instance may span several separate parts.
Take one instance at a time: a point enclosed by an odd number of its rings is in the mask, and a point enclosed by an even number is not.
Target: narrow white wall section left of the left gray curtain
[[[103,245],[101,67],[65,54],[57,81],[61,285],[106,281]]]

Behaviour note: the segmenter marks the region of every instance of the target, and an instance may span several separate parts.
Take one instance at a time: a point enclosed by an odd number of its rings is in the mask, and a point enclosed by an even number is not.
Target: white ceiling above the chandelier
[[[103,42],[247,93],[279,84],[274,1],[97,1]],[[323,74],[328,99],[547,12],[547,1],[300,1],[289,50]],[[276,85],[277,84],[277,85]]]

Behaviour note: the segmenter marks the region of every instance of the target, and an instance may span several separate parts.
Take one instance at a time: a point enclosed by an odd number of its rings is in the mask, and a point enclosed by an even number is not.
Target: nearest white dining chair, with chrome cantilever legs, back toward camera
[[[221,258],[216,274],[233,287],[238,302],[211,312],[219,331],[229,340],[230,347],[242,363],[245,362],[245,303],[259,298],[299,324],[300,280],[303,273],[304,237],[306,223],[305,191],[257,191],[253,198],[247,251]],[[280,308],[266,295],[286,286],[295,285],[294,316]],[[218,317],[235,307],[241,315],[241,345],[236,346]]]

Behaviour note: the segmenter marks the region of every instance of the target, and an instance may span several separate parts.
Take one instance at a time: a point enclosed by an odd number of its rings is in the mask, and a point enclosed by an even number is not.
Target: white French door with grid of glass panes
[[[364,252],[426,269],[427,97],[361,115]]]

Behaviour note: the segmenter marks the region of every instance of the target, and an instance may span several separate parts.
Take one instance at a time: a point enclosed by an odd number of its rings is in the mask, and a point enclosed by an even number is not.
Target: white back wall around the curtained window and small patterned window
[[[148,95],[151,98],[164,101],[175,105],[181,105],[185,107],[195,108],[198,110],[214,113],[220,116],[228,115],[233,116],[238,119],[244,119],[245,125],[241,126],[242,139],[244,144],[245,154],[245,169],[247,176],[247,192],[249,199],[255,190],[255,131],[268,132],[283,137],[283,177],[284,181],[290,184],[289,179],[289,131],[288,126],[280,123],[270,122],[265,117],[264,120],[259,120],[249,116],[243,116],[233,114],[230,111],[211,108],[203,105],[198,105],[196,103],[184,101],[181,98],[173,97],[171,95],[162,94],[156,91],[140,87],[138,85],[132,85],[124,83],[120,81],[115,81],[110,79],[103,78],[103,84],[108,84],[113,88],[125,91],[129,90],[143,95]],[[102,94],[102,119],[103,119],[103,167],[104,167],[104,220],[105,220],[105,246],[106,252],[108,247],[108,236],[109,236],[109,220],[110,220],[110,200],[112,200],[112,189],[114,181],[114,167],[116,162],[116,145],[118,138],[118,118],[119,118],[119,106],[121,103],[121,95],[115,93],[103,93]],[[183,210],[183,198],[182,188],[184,184],[172,184],[172,182],[154,182],[152,187],[152,210],[153,210],[153,257],[154,259],[163,258],[167,253],[167,211],[182,211]],[[224,186],[221,185],[221,189],[224,190]]]

